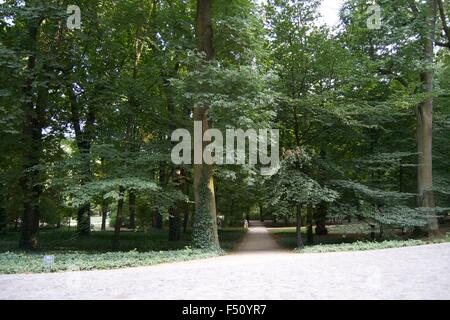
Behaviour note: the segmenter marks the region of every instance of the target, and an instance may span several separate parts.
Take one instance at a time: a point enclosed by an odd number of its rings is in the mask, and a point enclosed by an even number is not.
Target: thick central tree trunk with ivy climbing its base
[[[211,4],[211,0],[197,0],[197,47],[200,52],[205,54],[206,60],[214,57]],[[208,106],[194,108],[194,121],[202,122],[202,133],[210,128],[208,111]],[[205,147],[206,143],[202,143],[202,155]],[[195,198],[193,247],[219,248],[214,178],[211,166],[204,163],[194,165],[193,187]]]

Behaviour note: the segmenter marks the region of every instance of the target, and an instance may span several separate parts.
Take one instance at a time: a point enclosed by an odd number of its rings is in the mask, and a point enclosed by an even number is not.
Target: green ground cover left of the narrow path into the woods
[[[41,249],[32,253],[20,251],[19,233],[10,232],[0,235],[0,274],[115,269],[210,258],[231,251],[245,232],[238,228],[220,230],[224,251],[190,249],[190,233],[183,234],[180,241],[169,242],[165,229],[147,234],[123,232],[120,251],[112,252],[110,231],[77,238],[73,229],[42,230]]]

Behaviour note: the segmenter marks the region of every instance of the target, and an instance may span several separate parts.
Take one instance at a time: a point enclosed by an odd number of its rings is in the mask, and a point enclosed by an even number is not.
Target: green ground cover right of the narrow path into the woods
[[[314,235],[313,245],[306,244],[306,228],[302,228],[305,248],[298,250],[295,228],[271,228],[269,230],[282,247],[298,253],[363,251],[450,242],[450,233],[435,239],[408,239],[396,235],[390,240],[371,241],[370,228],[365,224],[354,224],[328,227],[328,235]]]

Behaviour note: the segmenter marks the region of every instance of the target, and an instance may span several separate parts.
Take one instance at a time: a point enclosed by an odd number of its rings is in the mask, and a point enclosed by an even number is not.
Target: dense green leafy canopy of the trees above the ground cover
[[[259,208],[282,218],[298,205],[326,204],[332,222],[424,226],[415,131],[427,97],[421,73],[430,67],[421,42],[426,2],[377,3],[381,29],[367,28],[368,1],[347,0],[340,28],[330,30],[317,20],[318,0],[213,1],[215,59],[205,62],[192,1],[80,0],[82,30],[65,27],[70,1],[2,2],[0,230],[21,226],[28,201],[47,227],[87,204],[98,213],[106,203],[114,222],[119,200],[129,217],[130,193],[141,229],[155,214],[167,221],[174,206],[190,222],[192,166],[172,165],[169,138],[192,128],[202,105],[213,128],[281,133],[274,177],[213,168],[226,223]],[[450,51],[435,53],[433,214],[445,215]],[[173,181],[176,169],[183,183]],[[213,220],[194,217],[206,230],[194,234],[196,247],[209,247]]]

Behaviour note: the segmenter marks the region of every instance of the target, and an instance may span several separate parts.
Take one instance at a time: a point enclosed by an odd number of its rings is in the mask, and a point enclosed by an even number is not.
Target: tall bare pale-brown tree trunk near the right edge
[[[428,97],[417,107],[417,146],[419,164],[417,173],[418,206],[429,208],[432,215],[428,224],[431,233],[437,232],[439,225],[434,217],[433,195],[433,84],[434,84],[434,39],[436,28],[436,1],[428,0],[426,8],[427,33],[423,37],[426,70],[421,74],[424,91]]]

